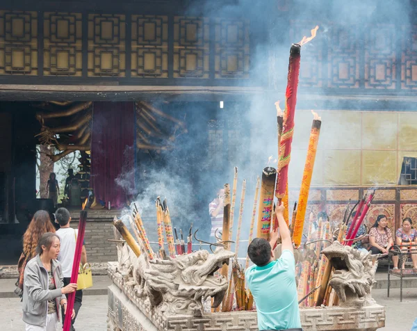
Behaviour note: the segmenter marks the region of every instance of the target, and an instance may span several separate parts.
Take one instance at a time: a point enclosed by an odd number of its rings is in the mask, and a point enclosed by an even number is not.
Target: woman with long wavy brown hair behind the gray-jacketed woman
[[[46,232],[55,233],[55,227],[51,223],[51,218],[49,218],[49,213],[44,210],[36,211],[35,215],[29,223],[26,232],[23,235],[23,252],[19,257],[17,262],[17,271],[19,271],[19,279],[16,282],[15,293],[22,297],[23,291],[23,280],[24,280],[24,268],[26,263],[35,257],[36,247],[38,246],[38,241],[40,236]]]

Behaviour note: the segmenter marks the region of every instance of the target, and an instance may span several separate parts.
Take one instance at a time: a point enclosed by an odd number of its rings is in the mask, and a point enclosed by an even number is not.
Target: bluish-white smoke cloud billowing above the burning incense
[[[250,19],[251,81],[254,82],[254,86],[262,84],[265,88],[263,92],[254,94],[252,97],[243,97],[239,102],[226,99],[224,108],[220,108],[217,100],[215,102],[154,104],[177,118],[183,118],[183,115],[186,115],[188,134],[175,141],[174,150],[161,153],[138,153],[140,170],[136,181],[139,192],[137,204],[142,210],[142,217],[149,219],[149,224],[154,222],[156,197],[161,196],[162,199],[166,197],[174,216],[175,227],[186,229],[190,223],[194,223],[208,236],[211,227],[208,203],[215,198],[215,192],[224,183],[232,184],[233,167],[236,165],[239,168],[239,175],[234,234],[236,235],[240,188],[243,179],[247,179],[241,236],[242,239],[247,239],[256,176],[261,175],[269,156],[272,155],[274,159],[277,159],[277,123],[274,102],[281,100],[281,108],[284,108],[289,49],[291,43],[299,42],[303,35],[309,35],[310,29],[313,29],[316,24],[320,26],[317,38],[302,47],[295,136],[288,179],[290,186],[300,186],[313,120],[310,109],[314,109],[322,117],[322,132],[312,183],[318,186],[344,184],[343,179],[340,179],[339,183],[323,179],[327,173],[335,172],[329,178],[338,181],[336,172],[341,171],[325,168],[327,166],[325,162],[331,162],[343,156],[341,150],[357,150],[360,154],[361,138],[357,134],[360,135],[363,130],[365,134],[368,130],[375,130],[375,134],[381,134],[382,140],[388,145],[397,134],[397,129],[391,122],[382,122],[381,126],[376,123],[373,128],[363,129],[361,127],[362,115],[359,112],[354,115],[348,114],[347,117],[351,120],[349,123],[344,122],[345,114],[334,111],[360,110],[357,100],[352,97],[351,102],[345,99],[339,102],[336,97],[329,102],[326,97],[334,94],[334,90],[333,92],[329,90],[325,83],[321,88],[316,83],[311,83],[314,85],[311,88],[307,86],[307,83],[320,79],[326,74],[329,65],[332,65],[327,62],[327,53],[325,53],[329,47],[340,47],[347,42],[354,51],[362,51],[361,47],[366,43],[380,42],[370,39],[368,30],[371,26],[386,27],[389,26],[387,24],[398,22],[407,26],[413,12],[410,1],[282,0],[254,3],[252,0],[236,0],[223,1],[224,4],[220,7],[217,1],[204,3],[190,1],[190,3],[196,4],[189,6],[185,15]],[[277,6],[280,10],[277,10]],[[270,13],[277,13],[279,16],[272,17]],[[291,30],[290,26],[293,21],[304,22],[302,28]],[[395,25],[393,27],[395,28]],[[334,33],[336,30],[340,33]],[[354,35],[354,38],[347,38],[351,35]],[[378,34],[375,34],[373,37],[377,38],[377,36]],[[407,31],[392,33],[392,38],[393,45],[395,45],[393,49],[400,47],[404,42],[409,42]],[[318,56],[322,62],[321,72],[317,71],[313,62]],[[363,77],[361,79],[363,80]],[[236,79],[236,86],[241,86],[243,83],[243,80]],[[346,92],[347,95],[354,93],[357,93],[354,89]],[[395,95],[395,90],[390,93]],[[315,99],[317,102],[314,102]],[[322,102],[323,99],[325,102]],[[381,108],[380,105],[381,103],[374,110],[390,110]],[[362,144],[366,144],[367,137],[364,136]],[[353,162],[354,167],[361,166],[355,162]],[[378,176],[369,180],[375,185],[386,184]],[[240,245],[240,247],[240,255],[245,255],[245,245]]]

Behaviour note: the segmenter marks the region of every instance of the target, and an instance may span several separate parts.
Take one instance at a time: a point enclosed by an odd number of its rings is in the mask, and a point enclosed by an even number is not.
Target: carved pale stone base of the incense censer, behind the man
[[[256,312],[165,316],[151,309],[149,300],[138,298],[111,272],[108,287],[108,331],[258,331]],[[385,326],[385,308],[379,305],[355,308],[302,308],[304,331],[375,331]]]

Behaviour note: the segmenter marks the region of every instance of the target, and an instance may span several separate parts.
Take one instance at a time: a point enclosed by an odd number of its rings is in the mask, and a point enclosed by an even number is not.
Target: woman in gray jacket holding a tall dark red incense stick
[[[26,331],[56,331],[59,305],[67,312],[66,293],[76,290],[76,284],[63,287],[60,263],[56,260],[60,250],[59,237],[51,232],[42,234],[36,252],[24,269],[23,321]],[[72,311],[72,318],[75,312]]]

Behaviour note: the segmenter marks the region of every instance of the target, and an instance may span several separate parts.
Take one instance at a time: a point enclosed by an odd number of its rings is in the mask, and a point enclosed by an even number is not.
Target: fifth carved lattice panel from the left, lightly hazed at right
[[[174,78],[208,79],[209,54],[209,19],[174,17]]]

